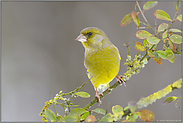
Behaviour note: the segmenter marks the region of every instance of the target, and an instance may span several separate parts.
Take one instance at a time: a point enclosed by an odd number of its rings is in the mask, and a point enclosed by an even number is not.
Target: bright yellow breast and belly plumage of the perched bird
[[[120,67],[119,54],[107,52],[104,54],[97,52],[85,58],[87,74],[94,88],[101,84],[110,83],[118,74]]]

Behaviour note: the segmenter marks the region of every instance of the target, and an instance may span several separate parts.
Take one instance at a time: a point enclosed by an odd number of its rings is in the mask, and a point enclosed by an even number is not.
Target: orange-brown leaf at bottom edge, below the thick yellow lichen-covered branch
[[[136,114],[140,117],[142,121],[151,122],[152,120],[154,120],[154,113],[147,109],[141,110]]]

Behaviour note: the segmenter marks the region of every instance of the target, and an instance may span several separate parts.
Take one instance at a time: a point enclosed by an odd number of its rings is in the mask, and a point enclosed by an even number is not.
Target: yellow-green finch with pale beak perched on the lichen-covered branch
[[[109,87],[109,83],[115,77],[120,83],[124,83],[121,78],[123,76],[116,76],[121,60],[118,48],[102,30],[96,27],[83,29],[76,40],[80,41],[85,48],[84,66],[96,90],[98,102],[101,103],[99,95],[103,96],[102,92]]]

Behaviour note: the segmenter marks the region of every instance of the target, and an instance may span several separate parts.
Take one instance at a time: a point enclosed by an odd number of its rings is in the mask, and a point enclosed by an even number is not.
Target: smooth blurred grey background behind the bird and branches
[[[145,2],[140,2],[142,5]],[[88,26],[102,29],[118,47],[122,56],[121,69],[127,49],[126,41],[140,41],[135,37],[138,31],[131,23],[120,26],[122,18],[134,11],[135,2],[2,2],[2,121],[41,121],[39,113],[44,102],[60,90],[69,92],[88,80],[84,67],[84,48],[75,41],[80,31]],[[181,7],[181,6],[180,6]],[[145,12],[151,26],[154,25],[154,11],[165,10],[173,19],[173,2],[159,2]],[[179,10],[181,10],[179,8]],[[180,13],[179,13],[180,14]],[[140,19],[144,22],[139,15]],[[157,20],[158,25],[162,20]],[[167,22],[170,23],[170,22]],[[181,29],[180,22],[173,24]],[[152,30],[150,30],[153,33]],[[134,44],[131,55],[137,54]],[[162,45],[158,47],[162,48]],[[152,59],[140,73],[127,81],[127,86],[117,87],[102,99],[102,105],[109,111],[113,105],[127,106],[131,100],[138,101],[181,78],[181,56],[172,64],[163,60],[161,65]],[[114,79],[111,83],[116,82]],[[95,95],[89,82],[82,91],[91,94],[89,99],[76,98],[72,101],[84,107]],[[180,96],[180,90],[171,95]],[[157,100],[146,109],[155,114],[157,120],[181,120],[181,110],[175,103],[162,105],[165,98]],[[180,102],[178,103],[180,105]],[[57,106],[63,115],[62,107]]]

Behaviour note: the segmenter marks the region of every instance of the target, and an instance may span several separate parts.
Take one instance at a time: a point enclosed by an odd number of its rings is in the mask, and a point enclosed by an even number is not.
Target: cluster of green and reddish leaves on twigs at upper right
[[[147,21],[146,17],[144,16],[144,12],[153,8],[158,2],[157,1],[148,1],[143,5],[143,10],[141,10],[138,2],[136,6],[139,7],[140,12],[132,11],[132,13],[127,14],[121,21],[121,26],[126,26],[131,22],[134,22],[138,29],[136,32],[136,37],[138,39],[143,40],[143,44],[140,42],[136,42],[135,49],[139,52],[146,51],[145,56],[149,56],[153,58],[155,62],[158,64],[162,63],[162,59],[169,60],[171,63],[175,60],[175,54],[182,55],[182,49],[179,48],[179,45],[182,44],[182,31],[179,29],[172,28],[172,25],[175,21],[182,22],[182,14],[178,15],[178,6],[179,1],[175,1],[175,9],[176,13],[173,19],[170,18],[169,14],[164,10],[156,10],[154,12],[155,17],[155,28],[153,28]],[[135,6],[135,9],[136,9]],[[139,20],[139,14],[141,13],[142,17],[144,18],[145,22]],[[156,27],[156,19],[165,20],[168,23],[161,23]],[[140,24],[145,27],[140,27]],[[154,34],[151,34],[146,28],[150,28],[154,31]],[[159,45],[160,42],[164,43],[164,46],[161,50],[156,50],[156,47]]]

